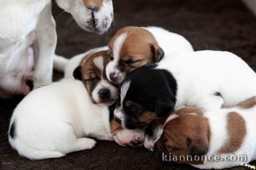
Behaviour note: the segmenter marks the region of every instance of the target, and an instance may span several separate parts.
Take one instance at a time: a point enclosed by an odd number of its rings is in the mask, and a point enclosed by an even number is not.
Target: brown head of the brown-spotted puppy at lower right
[[[168,118],[163,134],[154,143],[154,152],[163,160],[164,155],[180,158],[177,162],[201,164],[196,157],[205,155],[209,150],[210,128],[202,111],[193,107],[185,107]],[[183,157],[189,156],[188,160]],[[195,157],[196,156],[196,157]]]

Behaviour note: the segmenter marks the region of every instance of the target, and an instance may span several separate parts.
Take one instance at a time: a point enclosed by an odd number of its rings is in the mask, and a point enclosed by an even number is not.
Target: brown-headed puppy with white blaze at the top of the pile
[[[183,36],[161,27],[124,27],[108,44],[111,61],[106,67],[109,81],[120,84],[127,73],[147,63],[158,63],[164,56],[191,52]],[[165,54],[165,55],[164,55]]]

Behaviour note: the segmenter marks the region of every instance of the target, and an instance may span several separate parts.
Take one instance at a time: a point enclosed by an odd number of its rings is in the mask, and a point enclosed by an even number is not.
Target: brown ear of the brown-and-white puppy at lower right
[[[199,139],[187,139],[188,153],[192,156],[202,156],[205,155],[209,150],[209,141],[205,137],[200,137]]]

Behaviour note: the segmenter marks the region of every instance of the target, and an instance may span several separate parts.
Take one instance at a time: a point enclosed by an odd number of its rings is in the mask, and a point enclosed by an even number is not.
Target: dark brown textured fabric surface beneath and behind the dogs
[[[152,25],[185,36],[195,50],[232,51],[256,70],[256,18],[239,0],[113,0],[113,3],[115,27],[106,35],[82,31],[71,15],[60,15],[62,10],[54,3],[58,27],[56,53],[70,58],[106,45],[121,27]],[[54,80],[60,77],[61,73],[54,73]],[[19,157],[8,144],[6,132],[12,111],[21,98],[0,100],[0,169],[194,169],[163,164],[154,153],[143,148],[122,148],[107,141],[99,141],[92,150],[70,153],[63,158],[31,161]]]

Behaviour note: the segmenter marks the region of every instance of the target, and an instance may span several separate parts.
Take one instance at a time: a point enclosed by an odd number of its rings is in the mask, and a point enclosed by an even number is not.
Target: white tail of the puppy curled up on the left
[[[36,150],[35,148],[31,148],[26,143],[21,141],[19,137],[16,139],[11,139],[9,137],[10,144],[13,148],[15,148],[20,156],[29,158],[31,160],[39,160],[46,158],[60,158],[65,156],[65,154],[59,151],[44,151],[44,150]]]

